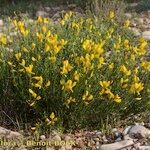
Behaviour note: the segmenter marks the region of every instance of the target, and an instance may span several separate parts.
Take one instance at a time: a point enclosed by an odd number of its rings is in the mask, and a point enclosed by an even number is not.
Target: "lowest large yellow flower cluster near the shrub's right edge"
[[[135,93],[139,94],[143,89],[144,89],[143,83],[136,82],[136,83],[132,83],[131,88],[130,88],[130,92],[133,94],[135,94]]]

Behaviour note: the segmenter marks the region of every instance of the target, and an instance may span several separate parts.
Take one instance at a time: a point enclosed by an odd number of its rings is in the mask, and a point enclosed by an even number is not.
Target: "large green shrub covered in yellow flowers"
[[[10,22],[11,34],[0,35],[2,109],[64,128],[150,109],[147,41],[128,31],[129,20],[121,27],[111,11],[101,21],[68,12],[58,24]]]

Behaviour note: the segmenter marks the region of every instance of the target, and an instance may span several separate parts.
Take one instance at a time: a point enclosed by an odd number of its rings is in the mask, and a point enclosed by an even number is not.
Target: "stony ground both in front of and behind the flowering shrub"
[[[75,5],[69,5],[65,8],[45,7],[37,11],[36,15],[50,17],[54,23],[57,23],[61,13],[65,10],[76,11],[82,15],[82,10]],[[131,20],[130,30],[135,36],[144,37],[150,44],[150,11],[138,15],[135,13],[126,13],[125,15]],[[0,32],[4,28],[6,28],[6,23],[0,19]],[[147,59],[150,60],[150,48]],[[30,136],[25,136],[24,133],[0,127],[0,150],[150,150],[150,120],[147,120],[147,123],[127,126],[124,129],[114,128],[109,135],[101,131],[83,130],[67,134],[54,131],[49,136],[40,135],[37,142]],[[41,145],[37,146],[37,144]]]

